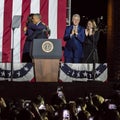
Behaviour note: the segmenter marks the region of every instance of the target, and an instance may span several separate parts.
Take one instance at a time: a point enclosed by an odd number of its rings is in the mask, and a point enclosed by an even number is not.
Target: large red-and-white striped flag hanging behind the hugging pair
[[[13,16],[21,25],[14,31],[14,62],[21,62],[25,35],[23,28],[30,13],[40,13],[51,29],[50,38],[62,39],[66,26],[66,0],[0,0],[0,62],[10,62]],[[63,43],[64,44],[64,43]]]

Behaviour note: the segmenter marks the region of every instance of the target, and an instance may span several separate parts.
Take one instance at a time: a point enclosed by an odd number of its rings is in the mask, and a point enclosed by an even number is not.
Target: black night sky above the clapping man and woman
[[[71,14],[78,13],[80,16],[87,16],[88,19],[97,19],[103,16],[107,24],[107,0],[71,0]],[[81,17],[81,23],[85,21]]]

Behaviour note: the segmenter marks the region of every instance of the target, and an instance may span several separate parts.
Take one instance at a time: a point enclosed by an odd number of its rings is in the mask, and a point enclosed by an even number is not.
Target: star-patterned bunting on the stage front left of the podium
[[[14,63],[13,81],[32,81],[34,79],[32,63]],[[11,81],[11,64],[0,63],[0,80]]]

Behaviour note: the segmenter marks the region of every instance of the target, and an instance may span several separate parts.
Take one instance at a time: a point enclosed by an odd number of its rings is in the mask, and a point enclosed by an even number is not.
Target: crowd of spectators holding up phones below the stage
[[[68,101],[58,87],[47,104],[38,95],[34,100],[0,98],[0,120],[120,120],[119,102],[90,93]]]

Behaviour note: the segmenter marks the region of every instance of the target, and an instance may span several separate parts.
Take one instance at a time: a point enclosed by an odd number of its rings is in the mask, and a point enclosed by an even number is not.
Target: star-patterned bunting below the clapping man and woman
[[[107,80],[107,64],[95,64],[95,80]],[[93,64],[61,63],[60,80],[63,82],[93,80]]]

